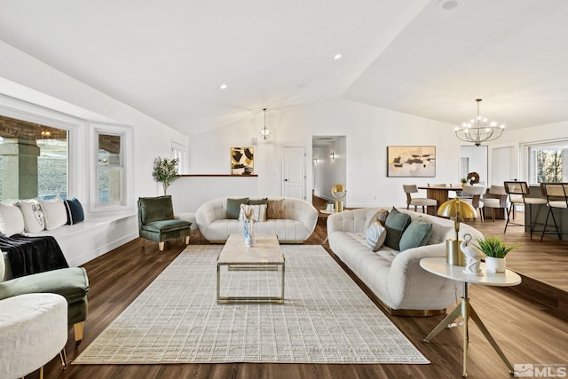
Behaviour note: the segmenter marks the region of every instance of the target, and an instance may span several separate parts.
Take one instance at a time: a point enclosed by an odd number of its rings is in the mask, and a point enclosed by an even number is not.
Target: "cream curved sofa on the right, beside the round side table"
[[[455,238],[454,221],[399,209],[411,219],[419,216],[432,223],[432,234],[425,246],[398,252],[383,246],[377,252],[367,247],[365,231],[380,208],[346,210],[327,218],[327,237],[333,250],[351,272],[375,293],[393,315],[434,315],[445,311],[462,295],[461,284],[420,267],[424,257],[446,257],[446,238]],[[473,241],[482,238],[477,229],[461,223],[460,239],[469,233]]]

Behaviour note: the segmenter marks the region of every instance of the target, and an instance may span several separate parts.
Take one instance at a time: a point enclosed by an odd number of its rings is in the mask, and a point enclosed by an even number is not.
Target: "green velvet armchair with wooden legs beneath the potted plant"
[[[141,238],[157,241],[163,251],[165,241],[185,238],[189,245],[190,222],[174,217],[171,196],[138,198],[138,231]]]

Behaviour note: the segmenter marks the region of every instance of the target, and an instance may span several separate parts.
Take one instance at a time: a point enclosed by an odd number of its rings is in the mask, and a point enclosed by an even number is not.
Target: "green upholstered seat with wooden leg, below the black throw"
[[[67,325],[75,328],[75,343],[83,339],[87,319],[89,279],[83,267],[39,272],[0,283],[0,300],[30,293],[59,294],[67,300]]]

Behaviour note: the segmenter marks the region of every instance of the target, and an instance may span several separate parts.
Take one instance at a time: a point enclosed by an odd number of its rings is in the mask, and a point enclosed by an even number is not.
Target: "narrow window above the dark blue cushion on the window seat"
[[[97,162],[99,205],[122,204],[124,202],[122,137],[120,135],[97,133],[97,140],[99,146]]]

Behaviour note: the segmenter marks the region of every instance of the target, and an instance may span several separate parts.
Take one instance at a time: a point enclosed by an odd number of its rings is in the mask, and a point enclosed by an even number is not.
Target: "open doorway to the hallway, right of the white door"
[[[345,136],[312,137],[312,192],[327,201],[335,201],[331,187],[341,184],[347,188],[347,138]],[[349,194],[343,198],[348,204]]]

